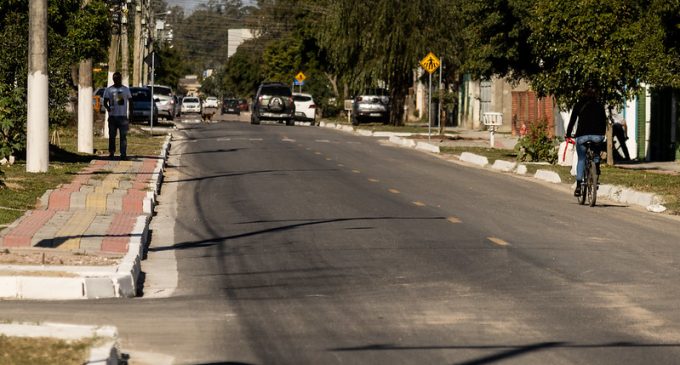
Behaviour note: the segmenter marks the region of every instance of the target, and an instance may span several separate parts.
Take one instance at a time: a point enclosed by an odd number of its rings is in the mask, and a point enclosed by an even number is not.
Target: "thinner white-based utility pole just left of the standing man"
[[[90,0],[83,0],[83,8]],[[94,152],[94,118],[92,112],[92,59],[78,67],[78,152]]]

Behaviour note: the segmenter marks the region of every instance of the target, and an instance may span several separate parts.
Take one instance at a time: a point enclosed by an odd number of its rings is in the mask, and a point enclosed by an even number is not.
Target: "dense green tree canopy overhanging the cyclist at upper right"
[[[679,0],[474,0],[465,69],[524,78],[563,107],[594,87],[620,103],[641,82],[680,85]]]

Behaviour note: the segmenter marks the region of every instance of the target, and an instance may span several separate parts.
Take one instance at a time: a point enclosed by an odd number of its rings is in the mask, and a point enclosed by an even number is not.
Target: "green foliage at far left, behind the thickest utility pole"
[[[25,147],[28,60],[28,0],[0,2],[0,155]],[[106,5],[80,0],[48,2],[49,121],[67,121],[73,89],[71,68],[80,60],[103,59],[110,39]]]

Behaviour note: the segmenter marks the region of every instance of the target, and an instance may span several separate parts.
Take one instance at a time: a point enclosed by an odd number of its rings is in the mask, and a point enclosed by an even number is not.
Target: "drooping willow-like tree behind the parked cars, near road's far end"
[[[390,91],[391,123],[400,124],[413,70],[428,52],[448,55],[448,75],[458,71],[459,1],[332,1],[319,28],[331,62],[350,88],[360,92],[384,83]]]

